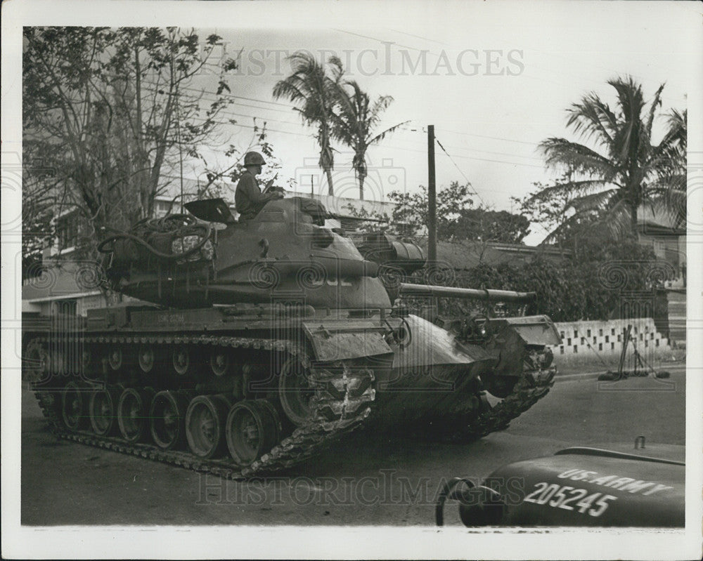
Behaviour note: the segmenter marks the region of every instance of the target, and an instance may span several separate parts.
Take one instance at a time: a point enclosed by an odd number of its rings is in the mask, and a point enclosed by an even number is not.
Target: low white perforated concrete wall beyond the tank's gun
[[[594,369],[617,368],[628,324],[632,325],[631,338],[637,351],[652,367],[683,358],[683,352],[671,348],[669,339],[657,331],[650,317],[610,319],[605,322],[560,322],[555,326],[562,337],[562,344],[552,348],[557,369],[579,364],[589,364]],[[634,348],[630,344],[625,368],[631,370],[634,367]]]

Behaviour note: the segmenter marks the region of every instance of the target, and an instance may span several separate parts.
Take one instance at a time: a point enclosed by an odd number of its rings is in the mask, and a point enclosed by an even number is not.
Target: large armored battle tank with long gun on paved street
[[[469,442],[553,383],[548,317],[432,312],[532,293],[405,282],[425,266],[418,246],[355,244],[314,199],[245,222],[222,199],[186,209],[101,242],[103,285],[133,301],[26,327],[23,368],[58,437],[250,477],[363,426]]]

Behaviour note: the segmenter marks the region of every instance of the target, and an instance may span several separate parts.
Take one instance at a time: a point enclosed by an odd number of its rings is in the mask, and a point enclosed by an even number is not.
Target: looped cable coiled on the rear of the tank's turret
[[[164,260],[180,260],[191,256],[196,251],[200,251],[202,246],[207,243],[212,232],[212,226],[207,222],[198,222],[193,216],[188,214],[169,214],[162,218],[143,218],[132,227],[132,231],[138,235],[117,230],[117,228],[105,227],[105,230],[116,232],[114,235],[103,239],[98,244],[98,251],[101,253],[112,253],[115,251],[113,245],[118,239],[131,239],[131,241],[140,244],[153,256]],[[202,232],[199,234],[198,232]],[[184,238],[186,236],[200,235],[200,241],[188,251],[183,253],[163,253],[154,246],[150,245],[146,238],[153,233],[171,233],[176,238]]]

